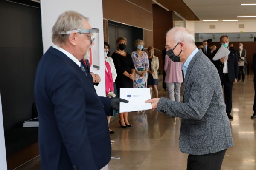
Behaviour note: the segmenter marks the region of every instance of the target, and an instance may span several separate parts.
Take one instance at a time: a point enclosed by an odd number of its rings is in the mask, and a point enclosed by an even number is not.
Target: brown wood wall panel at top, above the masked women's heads
[[[134,3],[139,5],[134,5]],[[148,6],[152,5],[151,0],[143,0],[143,2],[133,0],[133,3],[126,0],[102,0],[102,5],[105,19],[153,30],[152,12],[143,9],[148,9]]]

